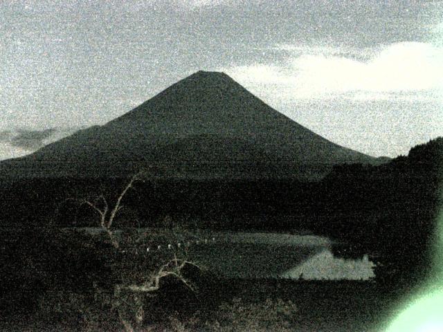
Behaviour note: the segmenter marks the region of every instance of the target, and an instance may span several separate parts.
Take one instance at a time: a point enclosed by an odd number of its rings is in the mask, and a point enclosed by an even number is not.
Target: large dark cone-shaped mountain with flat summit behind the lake
[[[225,73],[199,71],[132,111],[0,163],[15,176],[317,178],[333,165],[377,163],[269,107]]]

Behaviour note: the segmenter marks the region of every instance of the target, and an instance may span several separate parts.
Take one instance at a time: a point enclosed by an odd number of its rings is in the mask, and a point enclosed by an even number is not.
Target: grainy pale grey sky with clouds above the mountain
[[[439,1],[1,1],[0,131],[102,124],[202,69],[338,144],[406,154],[443,135],[442,22]]]

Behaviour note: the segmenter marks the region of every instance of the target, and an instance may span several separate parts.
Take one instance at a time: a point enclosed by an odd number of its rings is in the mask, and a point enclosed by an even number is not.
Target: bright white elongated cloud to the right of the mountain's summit
[[[284,46],[285,50],[291,50]],[[386,95],[418,94],[443,89],[443,48],[433,44],[404,42],[391,44],[366,60],[336,55],[334,48],[294,46],[295,56],[284,64],[235,66],[225,71],[246,86],[266,90],[277,85],[284,97],[368,99]],[[343,50],[343,54],[349,54]],[[360,55],[361,56],[361,55]],[[260,85],[260,86],[257,86]],[[266,91],[264,91],[266,92]]]

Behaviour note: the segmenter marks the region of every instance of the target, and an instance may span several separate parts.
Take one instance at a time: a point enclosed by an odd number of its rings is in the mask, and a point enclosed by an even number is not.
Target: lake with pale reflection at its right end
[[[99,234],[100,228],[87,231]],[[375,264],[368,255],[352,259],[335,257],[331,240],[310,234],[188,230],[181,233],[150,228],[136,231],[149,238],[138,245],[138,255],[141,252],[158,255],[159,250],[173,252],[186,247],[191,261],[220,277],[306,280],[369,280],[374,277]]]

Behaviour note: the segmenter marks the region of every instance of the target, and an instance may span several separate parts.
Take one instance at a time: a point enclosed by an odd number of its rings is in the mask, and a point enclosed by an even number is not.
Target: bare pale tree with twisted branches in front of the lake
[[[134,189],[136,182],[143,181],[144,176],[145,172],[143,171],[132,176],[127,185],[125,185],[120,194],[118,194],[114,205],[109,203],[104,194],[99,194],[93,199],[76,200],[80,205],[86,204],[98,213],[100,217],[100,228],[107,234],[114,248],[114,254],[116,254],[112,255],[112,257],[120,257],[120,259],[114,260],[111,263],[112,266],[114,266],[114,270],[116,270],[114,274],[120,275],[121,279],[120,282],[114,284],[114,293],[110,302],[111,308],[117,312],[120,322],[127,332],[134,332],[138,326],[143,325],[145,317],[143,297],[146,295],[154,295],[161,291],[162,279],[167,277],[174,278],[190,291],[195,292],[195,287],[192,282],[183,275],[183,270],[186,266],[191,265],[199,268],[199,266],[188,260],[185,246],[183,246],[181,250],[183,257],[177,257],[177,252],[173,252],[173,257],[158,256],[156,261],[151,261],[151,266],[147,266],[146,270],[138,271],[138,273],[136,273],[135,270],[140,270],[147,259],[143,259],[143,262],[138,264],[138,261],[136,261],[134,257],[125,256],[130,249],[128,248],[128,243],[134,243],[135,241],[118,239],[114,233],[114,221],[118,216],[118,212],[125,206],[122,204],[125,195],[129,190]],[[132,234],[132,236],[134,236],[134,234]],[[131,266],[134,270],[127,271],[128,266]],[[147,269],[150,269],[150,273],[148,273]],[[130,275],[130,277],[128,277],[128,275]],[[148,275],[147,278],[145,277],[146,275]]]

